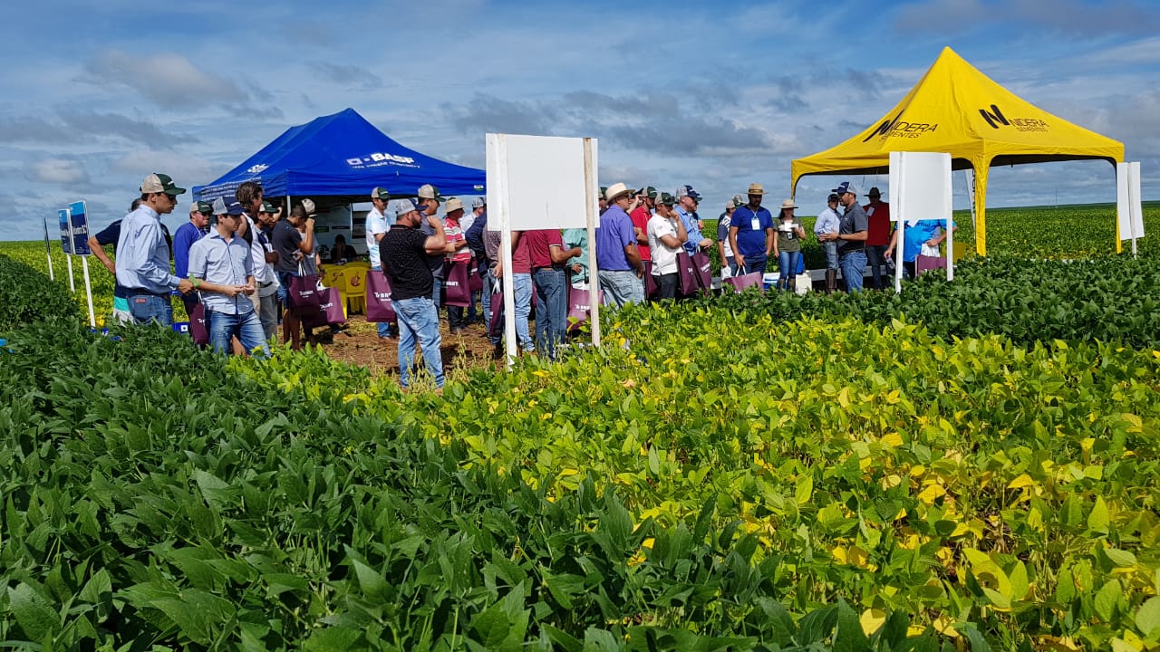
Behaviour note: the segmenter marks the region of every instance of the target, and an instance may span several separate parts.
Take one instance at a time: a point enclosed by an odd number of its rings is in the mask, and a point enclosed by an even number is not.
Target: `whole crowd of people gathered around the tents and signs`
[[[269,355],[268,342],[277,335],[280,321],[282,340],[299,348],[302,324],[290,310],[289,288],[296,276],[318,274],[314,202],[300,200],[282,217],[281,208],[264,201],[261,184],[247,181],[232,200],[194,202],[189,222],[171,237],[161,216],[172,212],[184,193],[169,176],[151,174],[142,182],[140,197],[129,215],[90,238],[93,253],[116,276],[114,318],[171,325],[171,295],[176,294],[189,314],[197,310],[204,314],[209,346],[215,350]],[[858,195],[855,184],[842,182],[814,223],[813,236],[825,253],[828,292],[838,290],[839,270],[848,292],[862,290],[868,265],[873,287],[882,289],[883,270],[892,263],[898,233],[892,231],[890,204],[882,202],[877,188],[870,189],[865,205]],[[716,240],[704,234],[697,212],[702,197],[688,184],[674,194],[624,183],[601,188],[594,242],[585,229],[513,232],[508,290],[515,304],[517,347],[548,358],[558,355],[568,332],[570,287],[599,292],[596,300],[614,306],[691,296],[695,289],[680,282],[680,266],[691,256],[716,253],[726,277],[763,275],[774,259],[777,287],[793,291],[807,233],[792,200],[781,203],[775,218],[762,205],[764,196],[761,183],[734,195],[718,217]],[[390,284],[397,316],[393,323],[378,324],[378,336],[398,340],[404,389],[413,381],[416,347],[425,353],[436,387],[442,387],[438,325],[444,275],[458,265],[481,281],[466,307],[445,306],[450,332],[462,333],[473,323],[487,321],[501,309],[492,304],[503,290],[502,234],[487,229],[481,197],[472,201],[470,211],[462,200],[443,197],[432,184],[393,198],[378,187],[369,198],[368,258],[371,270],[382,273]],[[902,262],[911,275],[916,256],[936,249],[947,229],[944,220],[905,225]],[[104,245],[114,245],[116,262]],[[588,269],[589,246],[595,247],[595,278]],[[332,254],[335,262],[356,255],[345,239],[335,240]],[[535,335],[530,328],[534,295]],[[502,332],[490,328],[488,336],[495,357],[501,357]],[[312,341],[310,329],[306,340]]]

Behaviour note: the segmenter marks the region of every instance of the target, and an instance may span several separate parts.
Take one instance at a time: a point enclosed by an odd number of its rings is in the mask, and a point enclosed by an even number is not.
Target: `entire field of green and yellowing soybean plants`
[[[1005,219],[954,283],[631,306],[442,397],[0,306],[0,638],[1155,649],[1160,261]],[[72,305],[39,247],[5,291]]]

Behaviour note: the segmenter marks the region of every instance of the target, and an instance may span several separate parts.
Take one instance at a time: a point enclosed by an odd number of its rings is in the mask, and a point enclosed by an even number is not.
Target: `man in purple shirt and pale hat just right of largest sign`
[[[608,210],[596,229],[596,267],[604,305],[622,306],[645,299],[645,287],[640,282],[645,268],[628,212],[632,203],[632,190],[624,183],[608,187]]]

